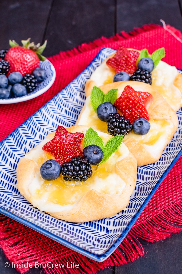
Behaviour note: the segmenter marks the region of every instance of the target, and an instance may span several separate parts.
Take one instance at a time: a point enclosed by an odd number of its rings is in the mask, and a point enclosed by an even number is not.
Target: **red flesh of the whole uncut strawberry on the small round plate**
[[[39,67],[40,62],[37,54],[29,48],[11,47],[5,55],[5,60],[10,63],[8,72],[20,72],[22,76]]]

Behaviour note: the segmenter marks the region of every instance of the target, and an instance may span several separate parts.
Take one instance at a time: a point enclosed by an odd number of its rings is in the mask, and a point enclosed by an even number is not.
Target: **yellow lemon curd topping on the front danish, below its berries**
[[[124,154],[126,151],[124,149]],[[66,181],[63,180],[60,175],[56,180],[53,181],[42,181],[42,184],[35,191],[34,198],[42,200],[45,198],[49,204],[55,203],[61,206],[72,205],[83,197],[86,192],[91,189],[95,189],[98,192],[116,195],[121,193],[126,183],[115,173],[115,163],[122,158],[122,151],[118,149],[113,155],[103,164],[101,164],[96,170],[96,166],[92,166],[93,176],[90,177],[86,182],[82,182],[81,185],[67,185]],[[40,166],[49,159],[49,155],[43,154],[43,157],[39,157],[37,163]],[[49,193],[49,195],[45,195]]]

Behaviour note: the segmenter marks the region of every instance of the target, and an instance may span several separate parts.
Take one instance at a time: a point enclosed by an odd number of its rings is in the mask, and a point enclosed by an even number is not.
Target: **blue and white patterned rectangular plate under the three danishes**
[[[49,132],[54,132],[59,125],[75,124],[85,102],[86,80],[113,52],[103,48],[76,79],[0,143],[0,212],[98,262],[104,261],[121,243],[182,154],[182,109],[177,112],[178,130],[160,160],[138,168],[136,188],[127,209],[110,218],[69,223],[41,212],[19,193],[16,166],[20,157]]]

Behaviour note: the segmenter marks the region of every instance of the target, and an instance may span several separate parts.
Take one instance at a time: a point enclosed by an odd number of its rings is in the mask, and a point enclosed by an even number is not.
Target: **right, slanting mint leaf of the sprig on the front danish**
[[[116,135],[112,137],[104,146],[104,156],[100,164],[105,163],[109,157],[119,148],[123,140],[123,135]]]

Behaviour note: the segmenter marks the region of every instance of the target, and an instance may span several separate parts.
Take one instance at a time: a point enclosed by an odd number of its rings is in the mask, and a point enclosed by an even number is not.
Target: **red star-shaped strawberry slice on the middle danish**
[[[145,118],[149,121],[147,109],[152,101],[152,94],[135,91],[131,86],[126,86],[114,104],[123,113],[123,116],[133,123],[138,118]]]

